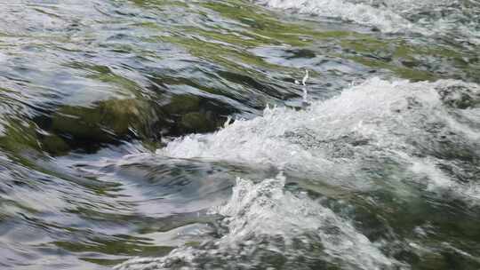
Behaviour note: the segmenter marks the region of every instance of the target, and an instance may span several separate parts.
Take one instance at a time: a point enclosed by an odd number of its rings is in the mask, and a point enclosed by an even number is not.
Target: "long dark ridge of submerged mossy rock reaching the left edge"
[[[215,97],[193,94],[103,99],[84,105],[42,104],[31,115],[6,107],[0,147],[14,155],[26,152],[67,155],[96,152],[106,144],[136,139],[157,148],[163,136],[215,131],[235,108]],[[20,113],[17,113],[19,112]]]

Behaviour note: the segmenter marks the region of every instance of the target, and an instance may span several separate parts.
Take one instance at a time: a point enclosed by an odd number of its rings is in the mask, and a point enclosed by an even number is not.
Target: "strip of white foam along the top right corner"
[[[423,35],[457,33],[480,42],[475,8],[447,0],[259,0],[272,8],[340,18],[379,28],[382,32],[412,31]],[[438,17],[436,13],[443,12]],[[426,15],[424,15],[426,14]]]

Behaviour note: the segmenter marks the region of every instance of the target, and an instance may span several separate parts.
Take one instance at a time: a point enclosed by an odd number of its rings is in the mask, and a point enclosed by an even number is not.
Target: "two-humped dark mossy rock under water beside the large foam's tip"
[[[51,155],[65,155],[72,149],[94,152],[102,145],[129,139],[156,148],[162,136],[215,131],[233,112],[225,104],[194,95],[165,100],[164,105],[145,99],[109,99],[90,107],[62,106],[34,118],[28,138],[36,150]]]

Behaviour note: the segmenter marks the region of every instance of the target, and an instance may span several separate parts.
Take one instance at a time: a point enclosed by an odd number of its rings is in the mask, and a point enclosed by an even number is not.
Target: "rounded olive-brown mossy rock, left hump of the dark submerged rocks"
[[[50,130],[74,141],[109,143],[128,136],[146,138],[156,120],[145,101],[113,99],[95,107],[60,107],[52,115]]]

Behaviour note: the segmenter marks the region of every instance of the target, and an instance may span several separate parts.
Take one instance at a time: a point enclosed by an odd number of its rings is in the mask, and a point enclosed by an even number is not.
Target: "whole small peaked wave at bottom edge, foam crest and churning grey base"
[[[221,226],[227,233],[218,240],[181,247],[164,258],[135,258],[116,269],[311,269],[320,263],[345,269],[400,266],[348,220],[306,195],[284,191],[284,183],[282,174],[258,184],[237,179],[229,202],[211,210],[224,217]],[[278,256],[278,261],[271,259]]]

